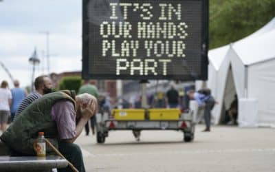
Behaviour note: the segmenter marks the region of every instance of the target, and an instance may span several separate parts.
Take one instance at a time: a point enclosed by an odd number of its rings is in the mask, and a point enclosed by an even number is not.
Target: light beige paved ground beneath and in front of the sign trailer
[[[105,144],[84,135],[77,142],[87,171],[275,171],[275,129],[202,129],[190,143],[179,131],[142,131],[140,142],[131,131],[113,131]]]

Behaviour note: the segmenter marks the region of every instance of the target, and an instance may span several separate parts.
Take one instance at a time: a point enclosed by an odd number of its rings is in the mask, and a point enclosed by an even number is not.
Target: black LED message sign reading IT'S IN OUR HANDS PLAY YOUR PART
[[[208,0],[83,0],[83,78],[207,79]]]

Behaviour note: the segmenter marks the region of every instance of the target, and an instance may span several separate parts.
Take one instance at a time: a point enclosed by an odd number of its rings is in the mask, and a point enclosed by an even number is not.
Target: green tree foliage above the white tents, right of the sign
[[[232,43],[275,17],[275,0],[210,0],[210,48]]]

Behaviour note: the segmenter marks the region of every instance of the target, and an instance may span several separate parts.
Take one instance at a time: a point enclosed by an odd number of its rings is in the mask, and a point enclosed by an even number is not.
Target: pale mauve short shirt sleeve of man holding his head
[[[76,110],[69,100],[61,100],[54,104],[51,111],[52,120],[56,122],[58,137],[61,140],[76,136]]]

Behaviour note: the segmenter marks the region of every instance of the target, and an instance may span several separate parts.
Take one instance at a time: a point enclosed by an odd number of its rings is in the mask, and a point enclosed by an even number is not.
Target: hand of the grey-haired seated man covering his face
[[[89,100],[88,103],[83,103],[80,105],[80,111],[82,114],[82,118],[91,118],[96,114],[98,107],[98,101],[97,100]]]

